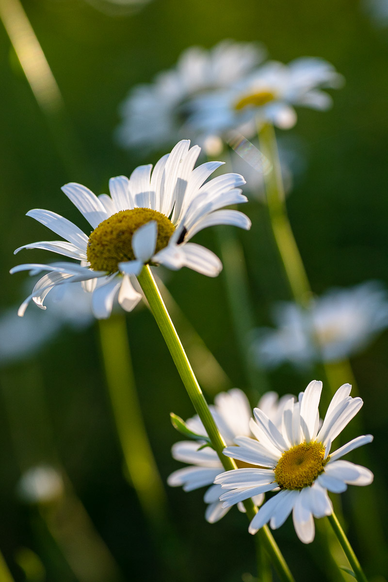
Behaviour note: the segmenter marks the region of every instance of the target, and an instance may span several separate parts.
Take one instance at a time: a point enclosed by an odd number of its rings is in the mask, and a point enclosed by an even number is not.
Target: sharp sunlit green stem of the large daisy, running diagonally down
[[[197,378],[195,378],[194,372],[191,369],[190,362],[187,359],[179,336],[176,333],[173,322],[171,321],[168,311],[166,310],[162,296],[159,293],[158,286],[155,283],[155,279],[152,276],[151,269],[148,265],[145,265],[143,271],[141,271],[140,275],[138,275],[138,282],[140,283],[141,289],[143,289],[152,315],[154,315],[156,323],[162,332],[163,338],[165,339],[166,345],[176,365],[177,371],[179,372],[179,375],[183,381],[188,396],[190,396],[195,411],[197,411],[198,416],[201,418],[201,421],[204,424],[204,427],[209,438],[211,439],[213,448],[215,449],[220,462],[222,463],[222,466],[226,471],[237,469],[234,460],[230,459],[230,457],[226,457],[222,453],[226,443],[220,435],[218,428],[216,427],[215,421],[209,410],[209,406],[205,400],[204,395],[202,394],[200,386],[198,385]],[[248,519],[251,520],[257,512],[252,499],[245,501],[244,506],[247,511]],[[261,537],[266,552],[269,554],[270,559],[272,560],[273,565],[279,574],[280,580],[282,580],[282,582],[294,582],[294,578],[289,570],[289,567],[287,566],[282,553],[280,553],[280,550],[277,547],[272,534],[270,534],[268,527],[265,526],[259,530],[259,536]]]

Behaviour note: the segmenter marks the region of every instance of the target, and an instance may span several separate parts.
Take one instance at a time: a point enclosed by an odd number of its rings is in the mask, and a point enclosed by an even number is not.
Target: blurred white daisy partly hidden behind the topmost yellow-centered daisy
[[[187,135],[190,100],[198,94],[230,87],[264,58],[259,45],[225,40],[209,51],[190,47],[175,68],[159,73],[153,83],[134,87],[120,111],[117,130],[124,147],[160,150]],[[198,137],[198,136],[197,136]]]

